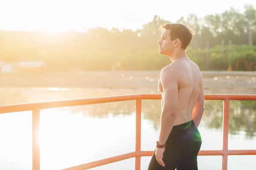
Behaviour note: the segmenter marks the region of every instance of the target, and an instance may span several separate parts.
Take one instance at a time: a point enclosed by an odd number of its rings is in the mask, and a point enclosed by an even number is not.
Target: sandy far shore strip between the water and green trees
[[[211,93],[256,94],[256,72],[202,71]],[[0,87],[156,88],[159,71],[92,71],[76,73],[0,73]]]

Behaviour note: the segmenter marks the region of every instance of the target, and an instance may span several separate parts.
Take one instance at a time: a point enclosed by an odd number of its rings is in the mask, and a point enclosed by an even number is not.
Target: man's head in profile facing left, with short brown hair
[[[160,26],[163,30],[161,39],[157,42],[159,53],[171,56],[174,51],[186,50],[194,36],[194,31],[178,23],[166,23]]]

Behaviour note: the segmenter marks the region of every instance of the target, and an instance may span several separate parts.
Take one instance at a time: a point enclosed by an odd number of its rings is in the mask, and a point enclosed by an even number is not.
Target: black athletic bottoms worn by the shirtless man
[[[157,162],[154,152],[148,170],[198,170],[201,144],[201,135],[193,120],[173,126],[163,153],[165,167]]]

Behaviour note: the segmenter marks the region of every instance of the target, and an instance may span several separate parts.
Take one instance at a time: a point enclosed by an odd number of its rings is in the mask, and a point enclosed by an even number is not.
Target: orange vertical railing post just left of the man
[[[141,157],[141,98],[136,99],[136,152],[140,154],[135,157],[135,170],[140,170]]]

